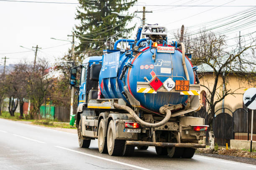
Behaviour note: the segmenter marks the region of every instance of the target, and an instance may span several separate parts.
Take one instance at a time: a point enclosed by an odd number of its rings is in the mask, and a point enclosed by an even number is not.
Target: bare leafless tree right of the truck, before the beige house
[[[179,40],[179,31],[174,34]],[[212,124],[215,115],[215,106],[228,95],[239,94],[238,89],[228,89],[228,77],[236,76],[238,81],[246,80],[249,83],[256,82],[256,60],[253,58],[255,49],[255,39],[251,37],[249,41],[243,41],[243,47],[238,45],[231,49],[227,45],[225,35],[214,32],[200,30],[200,34],[192,37],[185,31],[184,43],[186,50],[194,50],[192,63],[199,65],[201,86],[207,89],[205,96],[208,105],[208,125]],[[207,74],[212,75],[213,84],[204,81]]]

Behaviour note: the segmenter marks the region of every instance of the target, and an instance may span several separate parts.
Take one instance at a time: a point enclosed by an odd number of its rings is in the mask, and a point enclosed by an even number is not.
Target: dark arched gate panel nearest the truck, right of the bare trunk
[[[225,111],[232,111],[228,108],[220,108],[222,110],[216,117],[213,119],[213,133],[215,135],[214,143],[218,145],[225,146],[225,143],[228,143],[230,146],[230,139],[233,137],[233,119],[230,114]]]

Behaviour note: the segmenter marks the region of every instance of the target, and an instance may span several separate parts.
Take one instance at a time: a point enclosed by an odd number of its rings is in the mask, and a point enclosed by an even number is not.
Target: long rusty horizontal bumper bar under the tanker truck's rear
[[[159,146],[159,147],[177,147],[177,148],[205,148],[205,144],[197,143],[165,143],[165,142],[145,142],[126,140],[126,145],[133,146]]]

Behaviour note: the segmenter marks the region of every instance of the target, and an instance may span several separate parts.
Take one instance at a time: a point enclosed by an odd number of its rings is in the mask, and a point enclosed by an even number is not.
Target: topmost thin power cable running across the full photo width
[[[80,3],[72,3],[72,2],[44,2],[44,1],[25,1],[25,0],[0,0],[2,2],[28,2],[28,3],[51,3],[51,4],[71,4],[77,5]],[[91,5],[98,5],[98,3],[82,3],[82,4],[91,4]],[[110,4],[106,3],[104,5],[121,5],[121,4]],[[133,6],[143,6],[143,5],[133,5]],[[168,7],[220,7],[220,5],[147,5],[147,6],[168,6]],[[256,5],[223,5],[221,7],[256,7]]]

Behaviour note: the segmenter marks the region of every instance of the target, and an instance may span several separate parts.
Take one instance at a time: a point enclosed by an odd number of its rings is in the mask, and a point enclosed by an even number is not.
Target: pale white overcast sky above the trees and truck
[[[33,1],[78,2],[77,0]],[[169,38],[171,38],[172,30],[180,28],[182,24],[184,24],[185,28],[195,26],[191,29],[198,30],[203,27],[203,25],[200,25],[201,23],[217,20],[250,8],[218,7],[218,5],[249,6],[256,5],[256,3],[255,0],[138,0],[137,6],[131,8],[129,13],[133,13],[135,10],[142,10],[142,6],[139,5],[146,5],[146,10],[153,11],[153,13],[146,13],[146,23],[158,23],[166,26],[170,31]],[[167,5],[217,5],[217,7],[172,7]],[[20,47],[20,45],[29,49],[38,45],[42,48],[38,52],[38,57],[46,57],[51,63],[58,57],[63,56],[71,44],[50,38],[72,40],[67,35],[72,34],[72,29],[77,23],[74,20],[76,7],[77,5],[75,4],[6,2],[0,0],[0,65],[3,65],[4,60],[2,57],[5,56],[10,58],[7,60],[7,64],[17,63],[23,59],[33,61],[34,52]],[[138,13],[138,16],[142,17],[142,13]],[[248,21],[252,21],[251,23],[246,23],[245,21],[241,23],[248,25],[241,27],[241,35],[256,31],[255,18],[254,13],[251,18],[248,18]],[[139,24],[139,20],[133,19],[130,24],[134,25],[134,23]],[[207,25],[206,28],[208,27],[210,28],[211,26]],[[238,33],[239,30],[234,30],[229,32],[228,36],[232,38],[237,36]],[[134,31],[135,34],[136,30]],[[253,36],[255,37],[255,32]]]

